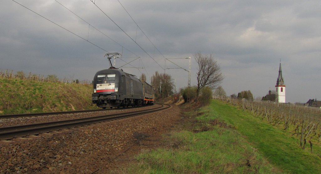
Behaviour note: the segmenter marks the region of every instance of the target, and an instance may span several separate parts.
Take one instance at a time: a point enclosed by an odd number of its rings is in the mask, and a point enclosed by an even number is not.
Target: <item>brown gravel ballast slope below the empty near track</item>
[[[0,141],[0,173],[110,172],[122,165],[116,163],[117,156],[139,153],[126,151],[137,145],[139,135],[166,131],[177,123],[179,114],[179,108],[172,106],[151,114]]]

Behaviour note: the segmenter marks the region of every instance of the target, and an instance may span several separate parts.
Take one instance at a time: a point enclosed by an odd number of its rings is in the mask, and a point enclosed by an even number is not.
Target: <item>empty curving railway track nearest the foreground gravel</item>
[[[118,114],[112,114],[112,115],[102,115],[102,116],[71,119],[71,120],[51,121],[51,122],[45,122],[45,123],[1,127],[0,140],[8,140],[15,137],[25,137],[28,135],[38,135],[40,133],[47,133],[50,131],[56,131],[64,128],[74,128],[74,127],[99,123],[103,121],[123,119],[127,117],[133,117],[136,115],[142,115],[142,114],[161,111],[170,107],[170,105],[168,104],[159,104],[159,105],[160,106],[157,108],[147,109],[143,111],[118,113]]]

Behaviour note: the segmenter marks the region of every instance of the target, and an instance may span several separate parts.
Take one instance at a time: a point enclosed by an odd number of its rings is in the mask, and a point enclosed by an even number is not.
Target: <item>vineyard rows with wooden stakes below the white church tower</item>
[[[313,143],[321,143],[321,110],[303,105],[275,104],[266,101],[247,101],[246,99],[224,97],[217,99],[247,111],[253,116],[260,117],[262,121],[266,119],[267,123],[273,123],[274,126],[284,124],[282,128],[284,131],[291,131],[292,135],[297,137],[301,134],[298,137],[301,148],[304,147],[304,140],[310,143],[311,149]]]

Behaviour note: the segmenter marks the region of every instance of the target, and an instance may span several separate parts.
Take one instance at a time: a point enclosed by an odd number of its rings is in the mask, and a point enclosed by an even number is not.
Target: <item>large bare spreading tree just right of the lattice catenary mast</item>
[[[203,87],[216,89],[216,87],[222,83],[224,77],[221,72],[220,65],[213,59],[212,54],[203,55],[201,52],[198,52],[194,54],[194,57],[198,64],[196,89],[197,99],[199,92]]]

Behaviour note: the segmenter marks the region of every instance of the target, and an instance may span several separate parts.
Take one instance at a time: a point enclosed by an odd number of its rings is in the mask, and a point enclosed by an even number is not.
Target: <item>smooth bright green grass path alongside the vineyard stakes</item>
[[[279,168],[289,173],[321,173],[320,146],[313,147],[314,153],[309,148],[302,150],[299,140],[289,133],[228,104],[213,101],[209,108],[213,117],[235,126],[259,153]]]

